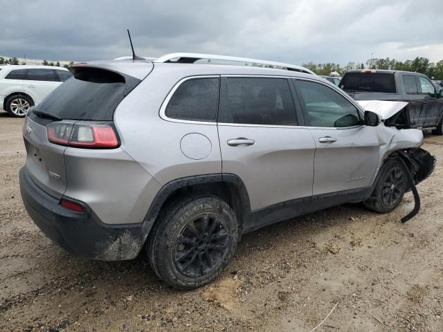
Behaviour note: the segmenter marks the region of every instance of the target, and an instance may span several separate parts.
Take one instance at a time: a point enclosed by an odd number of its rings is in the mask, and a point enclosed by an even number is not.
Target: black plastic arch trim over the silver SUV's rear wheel
[[[188,176],[166,183],[156,194],[147,211],[145,216],[146,231],[150,232],[152,226],[156,223],[159,212],[168,203],[179,199],[180,196],[185,197],[192,194],[213,194],[226,201],[237,216],[240,239],[244,221],[251,215],[251,205],[242,179],[235,174]]]

